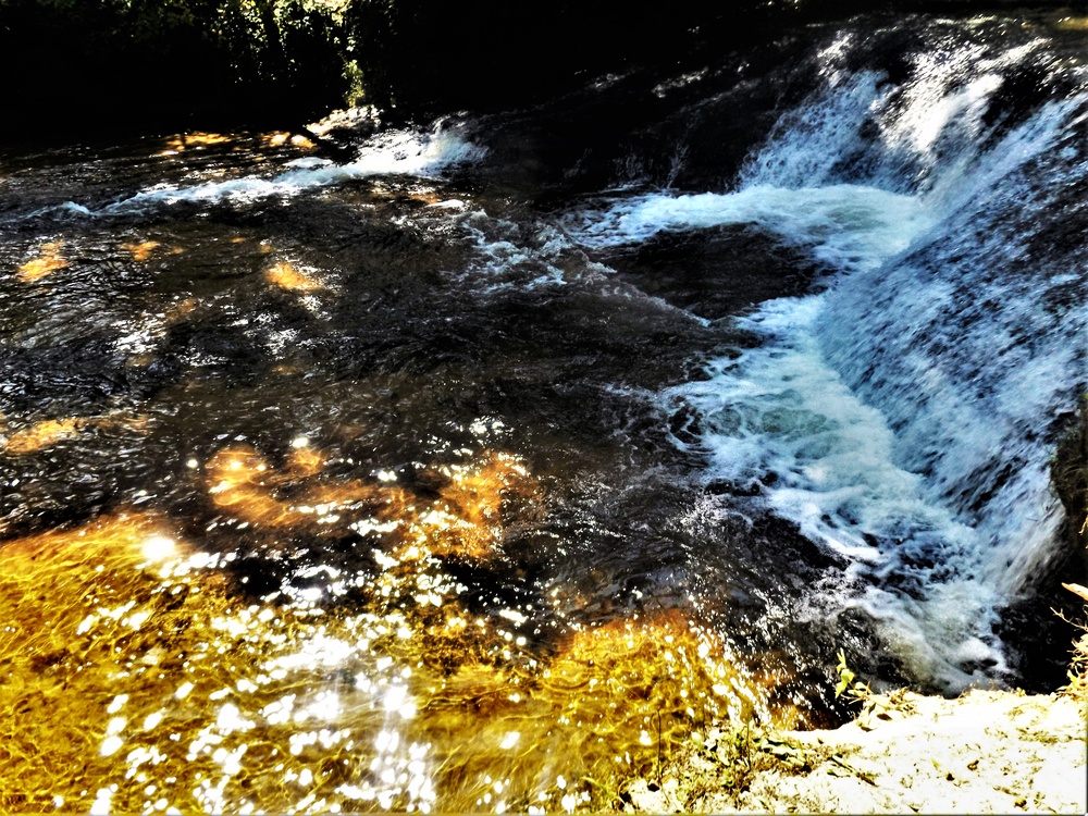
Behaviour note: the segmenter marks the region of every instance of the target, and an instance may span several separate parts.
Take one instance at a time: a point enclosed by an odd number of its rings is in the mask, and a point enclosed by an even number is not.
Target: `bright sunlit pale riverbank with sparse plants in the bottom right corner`
[[[741,784],[714,734],[659,784],[633,784],[625,811],[1084,813],[1085,718],[1056,694],[876,695],[836,730],[752,738]]]

